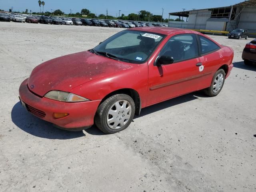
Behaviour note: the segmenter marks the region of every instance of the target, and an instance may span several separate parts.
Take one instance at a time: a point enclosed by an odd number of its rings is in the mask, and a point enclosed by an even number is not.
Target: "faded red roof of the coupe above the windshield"
[[[145,31],[145,32],[152,32],[152,33],[159,33],[163,35],[170,35],[173,33],[184,34],[184,33],[192,33],[192,34],[200,34],[199,32],[188,30],[188,29],[180,29],[180,28],[172,28],[172,27],[143,27],[143,28],[131,28],[129,30],[136,30],[136,31]]]

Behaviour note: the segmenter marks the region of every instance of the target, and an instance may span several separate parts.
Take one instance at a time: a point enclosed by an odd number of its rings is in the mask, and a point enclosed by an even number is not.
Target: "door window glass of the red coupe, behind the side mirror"
[[[198,45],[194,34],[179,35],[171,38],[160,52],[160,56],[169,56],[174,62],[198,57]]]

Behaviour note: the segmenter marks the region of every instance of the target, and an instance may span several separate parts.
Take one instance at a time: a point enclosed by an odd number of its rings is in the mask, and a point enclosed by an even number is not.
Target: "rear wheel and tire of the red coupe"
[[[204,90],[204,93],[214,97],[220,93],[225,82],[226,74],[223,69],[219,69],[212,78],[211,86]]]

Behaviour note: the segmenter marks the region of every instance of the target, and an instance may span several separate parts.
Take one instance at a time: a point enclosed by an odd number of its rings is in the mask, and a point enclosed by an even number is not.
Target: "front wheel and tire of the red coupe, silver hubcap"
[[[125,108],[123,108],[124,102],[126,102]],[[102,132],[113,134],[126,129],[132,122],[134,113],[133,99],[126,94],[116,94],[100,104],[94,117],[94,123]],[[108,120],[110,120],[109,123]]]

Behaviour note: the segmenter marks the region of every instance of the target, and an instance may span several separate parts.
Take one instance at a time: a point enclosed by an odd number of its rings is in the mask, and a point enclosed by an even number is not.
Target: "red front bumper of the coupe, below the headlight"
[[[51,122],[62,128],[90,127],[94,124],[94,115],[101,100],[87,102],[59,102],[32,93],[27,86],[28,79],[20,85],[20,100],[26,109],[42,120]],[[55,119],[53,113],[68,113],[63,118]]]

